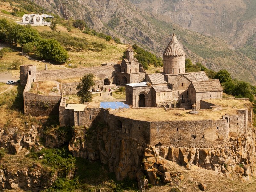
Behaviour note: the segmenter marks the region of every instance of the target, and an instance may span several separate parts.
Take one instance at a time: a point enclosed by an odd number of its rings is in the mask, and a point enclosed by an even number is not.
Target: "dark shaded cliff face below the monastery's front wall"
[[[87,130],[77,128],[69,143],[69,150],[74,156],[100,159],[108,165],[110,172],[115,172],[117,180],[136,177],[140,171],[144,147],[140,140],[118,134],[107,125],[98,125],[89,134]]]

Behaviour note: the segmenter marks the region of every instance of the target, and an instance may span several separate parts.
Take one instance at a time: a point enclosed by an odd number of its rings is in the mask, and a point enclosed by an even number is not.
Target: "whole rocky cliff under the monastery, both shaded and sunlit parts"
[[[256,175],[255,138],[252,132],[246,136],[230,136],[225,145],[215,148],[155,147],[114,132],[107,125],[98,125],[91,133],[80,128],[74,130],[69,150],[77,157],[100,159],[102,163],[108,164],[111,172],[115,172],[118,180],[136,176],[140,181],[146,173],[151,184],[156,184],[158,177],[162,177],[165,183],[178,182],[180,178],[173,181],[174,177],[170,176],[175,175],[168,168],[170,161],[188,170],[191,166],[213,170],[231,180],[239,178],[245,182]]]

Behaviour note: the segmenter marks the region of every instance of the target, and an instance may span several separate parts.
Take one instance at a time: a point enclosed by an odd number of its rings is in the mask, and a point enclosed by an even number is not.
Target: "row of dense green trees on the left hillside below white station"
[[[30,25],[18,25],[15,22],[6,19],[0,19],[0,40],[9,44],[24,47],[27,53],[33,52],[36,47],[36,54],[43,58],[54,62],[66,62],[68,59],[67,51],[59,42],[53,39],[44,39],[39,35],[38,31],[31,28]],[[44,49],[47,47],[47,54]]]

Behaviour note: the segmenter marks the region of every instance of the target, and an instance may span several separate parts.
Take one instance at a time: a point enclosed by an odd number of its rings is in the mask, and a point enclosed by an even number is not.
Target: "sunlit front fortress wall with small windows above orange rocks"
[[[151,145],[212,148],[224,143],[228,130],[224,120],[170,121],[151,122],[150,134]]]

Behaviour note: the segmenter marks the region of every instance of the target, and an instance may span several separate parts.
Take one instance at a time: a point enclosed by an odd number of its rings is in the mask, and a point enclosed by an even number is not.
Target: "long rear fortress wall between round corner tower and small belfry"
[[[106,74],[109,77],[114,76],[115,70],[120,70],[119,67],[114,66],[101,66],[101,67],[89,67],[89,68],[72,68],[72,69],[54,69],[36,71],[36,81],[54,81],[56,79],[68,79],[74,77],[82,77],[86,73],[93,73],[94,75]]]

